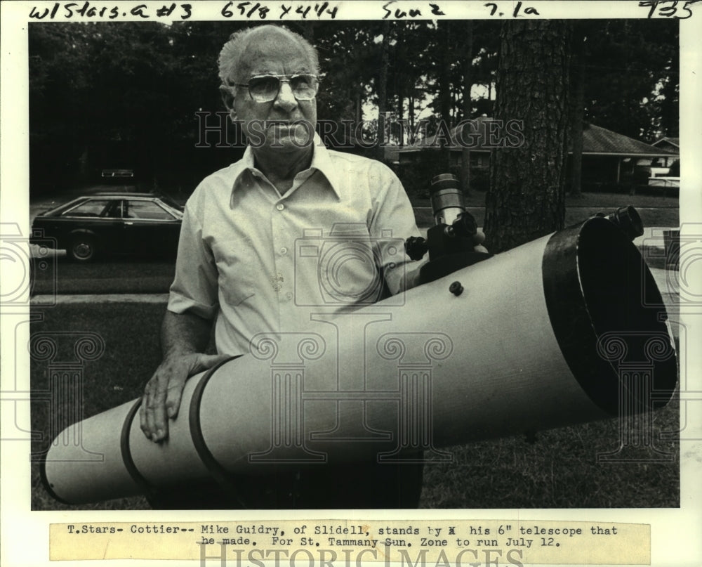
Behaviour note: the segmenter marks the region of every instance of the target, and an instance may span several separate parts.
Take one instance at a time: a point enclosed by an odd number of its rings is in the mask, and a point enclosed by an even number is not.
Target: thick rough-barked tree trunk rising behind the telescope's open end
[[[563,228],[569,30],[555,20],[502,26],[496,119],[519,119],[524,139],[493,151],[485,216],[491,252]]]

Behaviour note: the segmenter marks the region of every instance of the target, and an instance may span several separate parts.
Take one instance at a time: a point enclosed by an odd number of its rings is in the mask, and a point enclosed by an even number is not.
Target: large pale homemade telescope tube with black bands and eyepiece
[[[80,443],[64,432],[44,456],[48,492],[82,504],[281,467],[441,460],[451,445],[668,403],[677,358],[632,242],[635,209],[475,256],[455,182],[439,181],[438,228],[408,242],[430,267],[403,301],[256,335],[249,353],[186,382],[163,443],[141,431],[140,400],[84,419]]]

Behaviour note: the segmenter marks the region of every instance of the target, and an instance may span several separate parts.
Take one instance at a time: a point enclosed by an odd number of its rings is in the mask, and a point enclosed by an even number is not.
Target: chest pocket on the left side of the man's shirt
[[[261,266],[251,240],[232,238],[213,242],[212,254],[217,264],[220,301],[236,307],[256,295],[254,275]]]

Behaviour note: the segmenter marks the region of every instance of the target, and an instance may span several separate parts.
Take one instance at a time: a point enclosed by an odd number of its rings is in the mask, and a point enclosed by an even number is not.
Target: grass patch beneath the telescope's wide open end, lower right
[[[656,413],[654,436],[677,431],[678,406]],[[422,507],[619,508],[680,506],[677,443],[654,443],[673,462],[598,462],[620,447],[619,420],[453,448],[452,464],[425,467]],[[623,455],[627,455],[624,451]],[[631,455],[628,455],[629,457]]]

